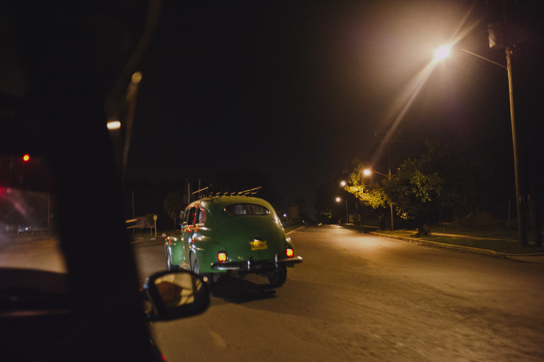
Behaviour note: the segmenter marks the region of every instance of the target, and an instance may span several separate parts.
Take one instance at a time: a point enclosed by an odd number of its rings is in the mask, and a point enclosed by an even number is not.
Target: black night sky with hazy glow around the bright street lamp
[[[525,3],[537,39],[542,5]],[[319,183],[355,157],[386,172],[374,132],[390,129],[436,48],[466,33],[401,119],[405,141],[394,145],[394,161],[417,155],[425,139],[458,140],[504,160],[511,183],[506,70],[455,50],[505,64],[504,51],[488,47],[485,2],[473,5],[165,1],[141,66],[128,176],[176,182],[255,168],[270,174],[286,203],[302,197],[312,205]],[[542,58],[542,40],[534,41],[520,46],[514,63],[516,115],[531,163],[542,159],[535,145]]]

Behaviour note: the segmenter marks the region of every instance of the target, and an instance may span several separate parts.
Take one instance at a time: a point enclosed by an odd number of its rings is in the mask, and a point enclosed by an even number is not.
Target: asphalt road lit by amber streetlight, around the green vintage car
[[[224,278],[199,316],[156,322],[169,361],[542,361],[544,265],[334,226],[289,235],[304,263],[281,288]],[[135,243],[140,277],[163,241]]]

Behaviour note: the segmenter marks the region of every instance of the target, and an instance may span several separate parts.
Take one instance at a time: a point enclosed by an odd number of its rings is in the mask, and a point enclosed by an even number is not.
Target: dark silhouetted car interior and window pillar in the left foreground
[[[106,127],[127,118],[122,100],[159,10],[153,0],[0,2],[0,192],[54,195],[66,264],[0,269],[0,360],[161,360],[121,212],[130,129]],[[168,316],[154,303],[155,319],[200,313],[206,288]],[[149,294],[162,297],[154,284]]]

